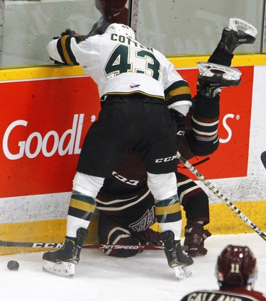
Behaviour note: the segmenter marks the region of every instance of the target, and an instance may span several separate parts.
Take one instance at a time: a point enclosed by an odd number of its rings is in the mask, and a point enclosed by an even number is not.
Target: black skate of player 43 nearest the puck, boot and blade
[[[87,229],[79,228],[76,237],[65,237],[65,242],[55,251],[43,254],[43,271],[57,276],[74,276],[74,265],[79,263],[80,252],[88,234]]]

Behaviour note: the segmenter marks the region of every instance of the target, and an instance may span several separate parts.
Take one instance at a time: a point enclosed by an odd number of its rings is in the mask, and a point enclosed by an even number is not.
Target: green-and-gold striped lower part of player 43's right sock
[[[162,232],[174,232],[174,240],[179,240],[182,231],[182,215],[177,195],[156,202],[155,214]]]

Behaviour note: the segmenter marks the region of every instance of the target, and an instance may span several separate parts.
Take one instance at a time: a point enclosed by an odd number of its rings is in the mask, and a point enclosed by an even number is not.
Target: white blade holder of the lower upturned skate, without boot
[[[209,62],[198,62],[197,66],[199,68],[199,74],[202,76],[211,77],[221,72],[223,79],[238,81],[242,74],[238,69]]]

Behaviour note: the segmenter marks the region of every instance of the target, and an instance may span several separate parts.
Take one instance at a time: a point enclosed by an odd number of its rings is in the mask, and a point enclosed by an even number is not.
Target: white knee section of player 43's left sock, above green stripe
[[[77,171],[73,180],[73,191],[78,191],[84,195],[96,198],[101,186],[104,185],[104,178],[99,176],[89,176]]]

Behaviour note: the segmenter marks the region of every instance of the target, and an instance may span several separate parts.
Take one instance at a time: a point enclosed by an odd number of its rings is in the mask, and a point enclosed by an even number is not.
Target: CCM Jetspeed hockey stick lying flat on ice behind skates
[[[57,242],[6,242],[0,240],[1,246],[15,246],[22,248],[39,248],[39,249],[52,249],[59,248],[62,244]],[[122,244],[84,244],[82,249],[131,249],[131,250],[164,250],[164,246],[154,245],[122,245]]]

